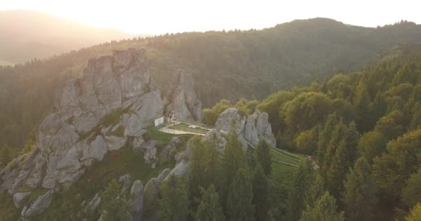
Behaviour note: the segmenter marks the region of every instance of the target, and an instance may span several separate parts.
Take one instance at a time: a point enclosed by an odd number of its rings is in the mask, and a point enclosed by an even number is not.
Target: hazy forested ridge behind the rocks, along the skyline
[[[146,48],[163,93],[172,72],[192,73],[204,106],[221,99],[263,99],[270,93],[358,70],[382,50],[421,39],[402,22],[383,28],[347,26],[331,19],[297,20],[264,30],[186,32],[111,41],[47,60],[0,67],[0,147],[15,153],[53,106],[66,79],[78,77],[90,57]]]

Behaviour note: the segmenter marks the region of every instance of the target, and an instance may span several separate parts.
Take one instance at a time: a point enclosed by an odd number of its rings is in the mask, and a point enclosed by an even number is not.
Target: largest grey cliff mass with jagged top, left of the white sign
[[[83,76],[67,81],[57,95],[39,126],[35,151],[1,171],[0,189],[11,194],[22,186],[60,189],[108,151],[127,142],[140,145],[143,128],[162,116],[161,92],[150,76],[145,50],[116,50],[89,59]]]

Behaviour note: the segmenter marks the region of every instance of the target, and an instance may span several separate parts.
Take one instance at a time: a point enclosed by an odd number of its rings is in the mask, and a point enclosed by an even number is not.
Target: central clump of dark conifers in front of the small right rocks
[[[194,138],[195,139],[195,138]],[[187,177],[168,177],[156,202],[160,220],[269,220],[271,175],[269,146],[244,152],[231,131],[223,152],[215,142],[191,144]],[[155,208],[145,208],[151,211]],[[145,205],[147,206],[147,205]]]

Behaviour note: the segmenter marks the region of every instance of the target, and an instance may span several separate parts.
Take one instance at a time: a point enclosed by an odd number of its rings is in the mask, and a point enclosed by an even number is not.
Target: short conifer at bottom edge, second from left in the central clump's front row
[[[195,215],[196,221],[224,221],[224,213],[220,205],[220,198],[211,184],[208,189],[201,188],[201,201]]]

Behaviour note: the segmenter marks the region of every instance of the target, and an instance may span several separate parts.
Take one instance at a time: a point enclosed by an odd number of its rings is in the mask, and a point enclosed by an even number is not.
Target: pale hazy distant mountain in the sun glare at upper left
[[[133,37],[27,10],[0,11],[0,65],[23,63],[105,41]]]

